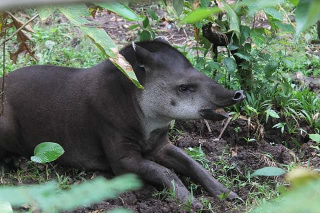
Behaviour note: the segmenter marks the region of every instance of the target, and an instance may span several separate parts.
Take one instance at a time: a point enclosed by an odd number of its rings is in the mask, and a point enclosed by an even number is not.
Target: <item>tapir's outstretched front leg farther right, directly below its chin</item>
[[[230,192],[213,178],[200,164],[171,143],[168,143],[156,153],[153,153],[149,158],[166,168],[172,168],[178,174],[191,177],[198,181],[212,196],[219,197],[221,193],[226,194]],[[228,199],[237,197],[238,196],[233,192],[230,192],[228,195]]]

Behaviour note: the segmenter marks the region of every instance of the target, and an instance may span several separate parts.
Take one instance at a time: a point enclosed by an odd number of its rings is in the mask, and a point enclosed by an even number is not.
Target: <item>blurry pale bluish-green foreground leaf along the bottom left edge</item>
[[[85,183],[72,185],[69,191],[58,191],[55,182],[23,187],[0,187],[0,200],[5,199],[12,206],[36,204],[41,212],[60,212],[116,198],[124,191],[140,187],[141,182],[135,175],[126,174],[112,180],[97,177]]]

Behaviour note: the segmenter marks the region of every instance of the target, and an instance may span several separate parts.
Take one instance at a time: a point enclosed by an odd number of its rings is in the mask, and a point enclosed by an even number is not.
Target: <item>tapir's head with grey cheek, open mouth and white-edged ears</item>
[[[144,90],[138,96],[143,113],[154,119],[208,119],[228,117],[222,108],[242,101],[242,90],[227,90],[192,67],[165,42],[133,44],[136,61],[144,68]]]

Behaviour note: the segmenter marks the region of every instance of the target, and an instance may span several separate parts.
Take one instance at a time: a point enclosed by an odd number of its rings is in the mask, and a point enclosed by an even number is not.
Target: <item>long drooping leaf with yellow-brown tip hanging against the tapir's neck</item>
[[[138,88],[143,88],[137,80],[131,65],[118,52],[112,39],[103,29],[89,26],[80,26],[80,29],[134,85]]]

